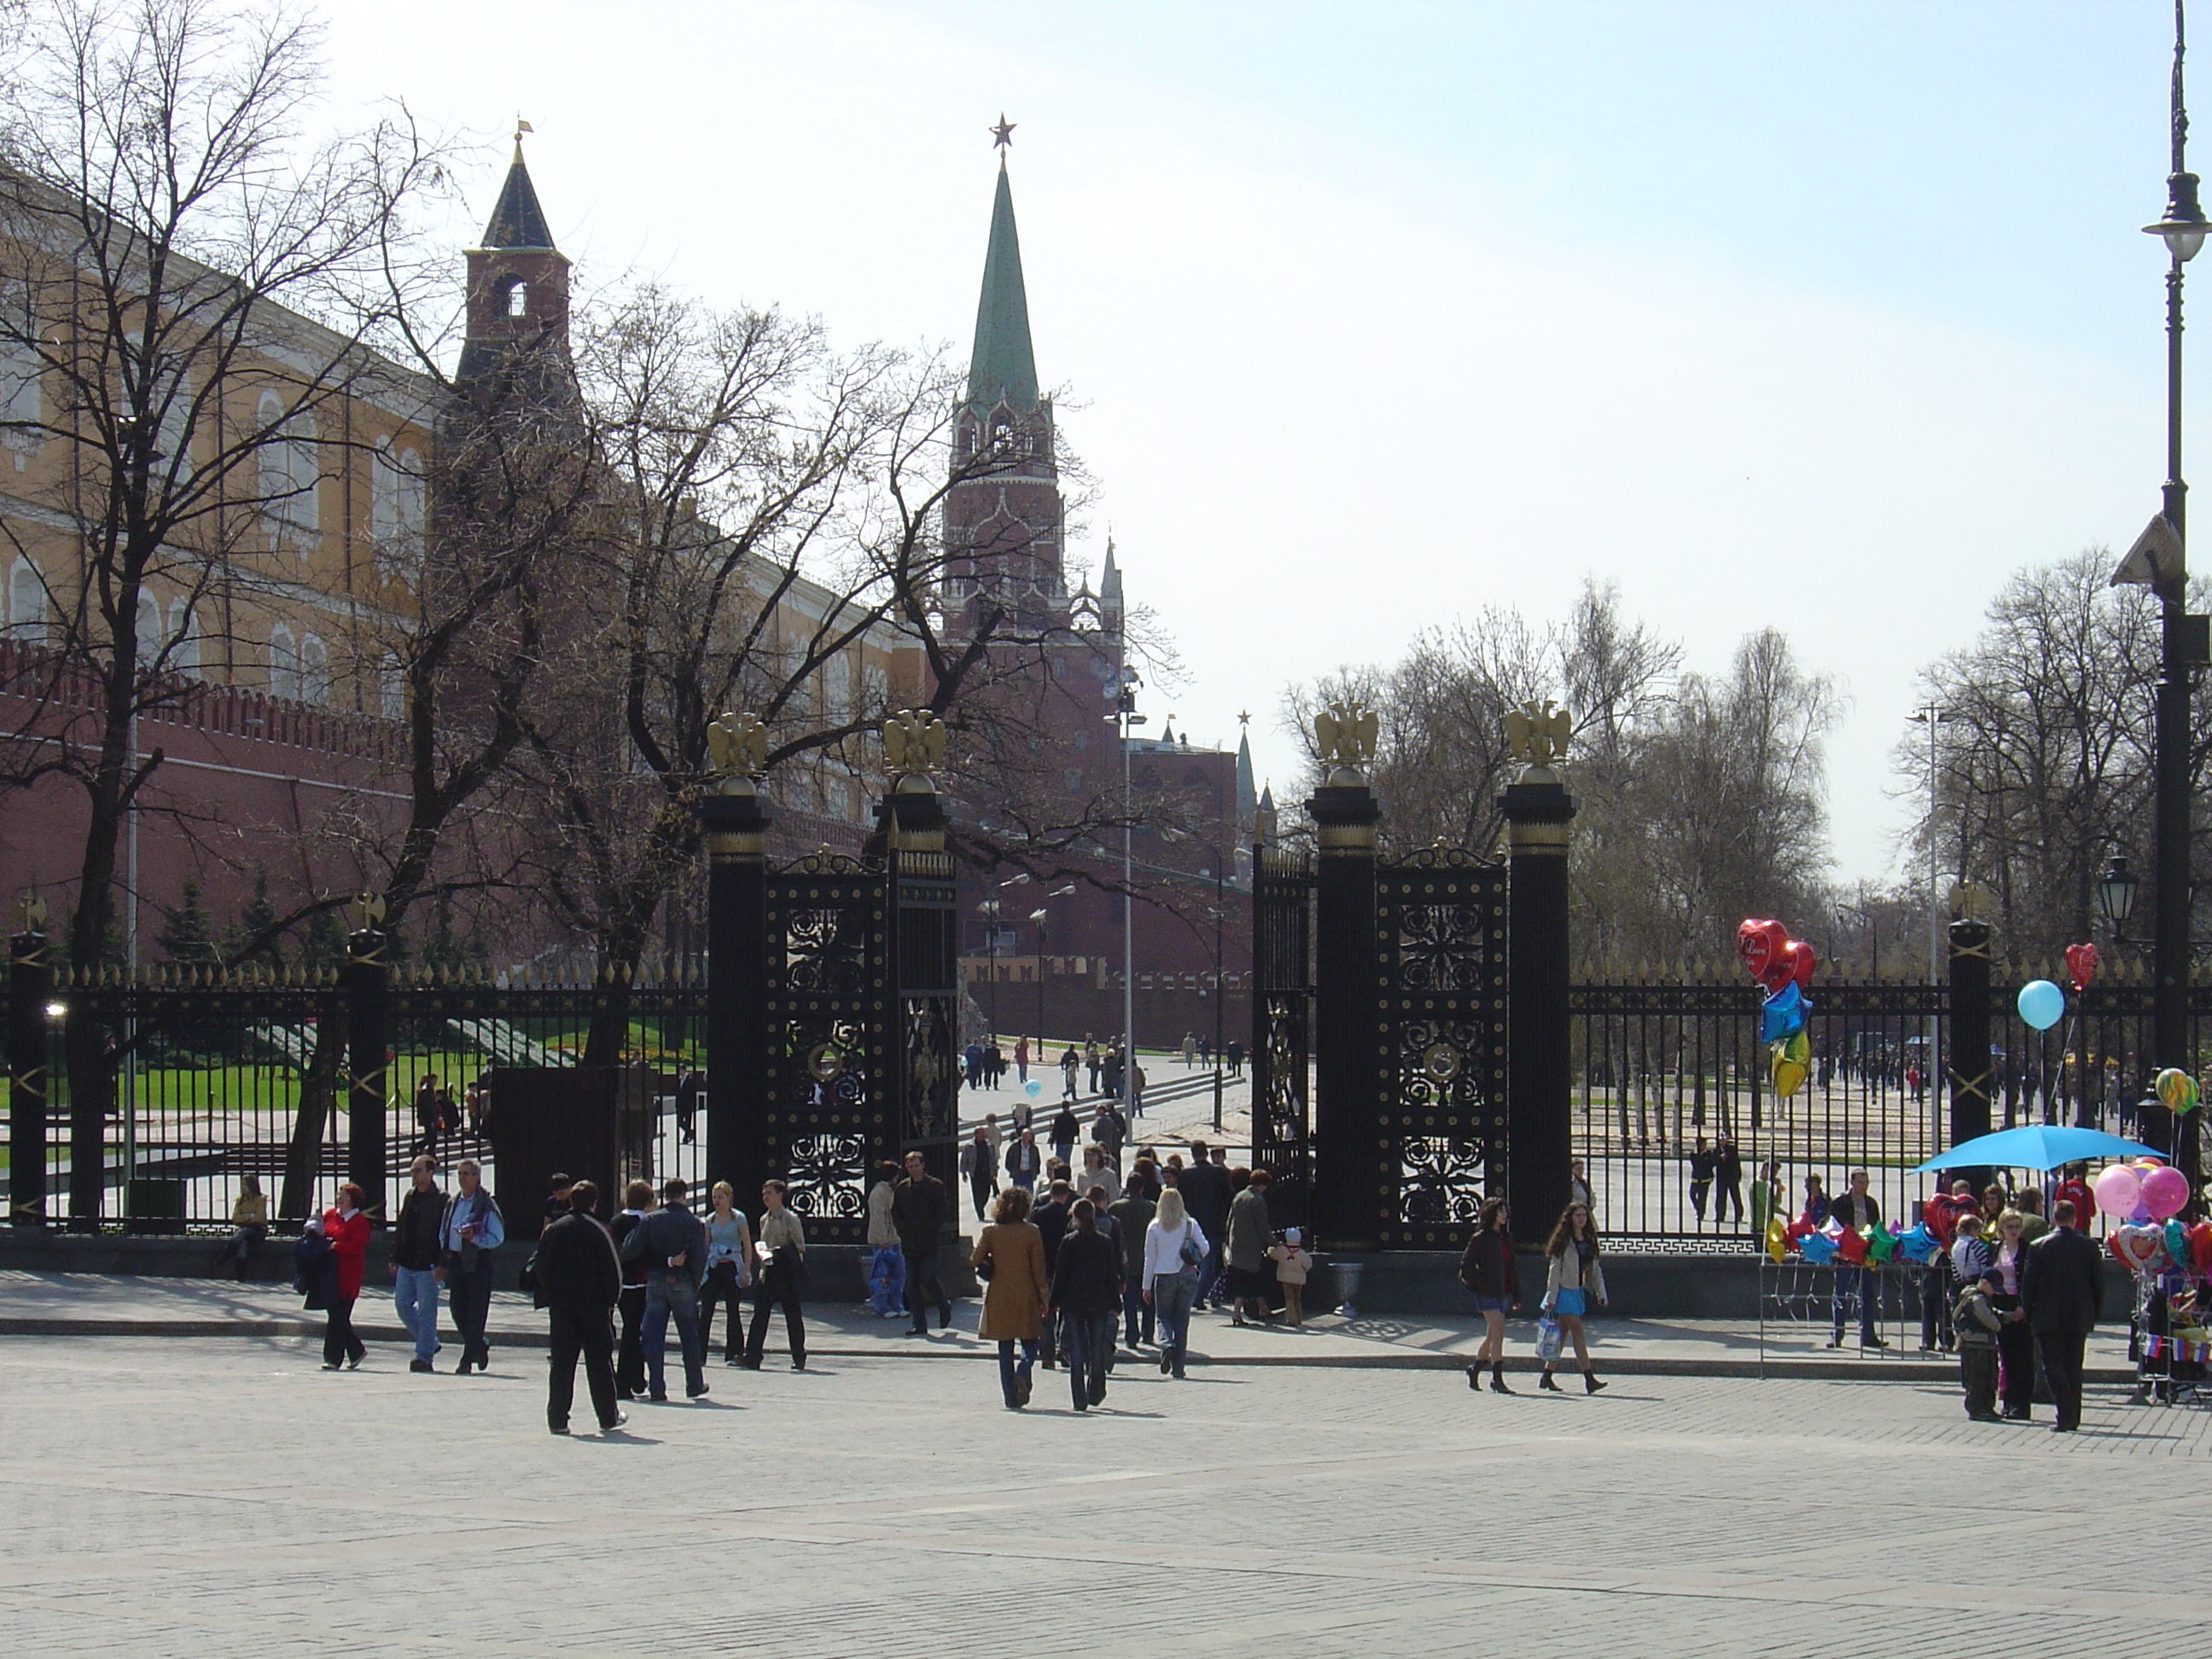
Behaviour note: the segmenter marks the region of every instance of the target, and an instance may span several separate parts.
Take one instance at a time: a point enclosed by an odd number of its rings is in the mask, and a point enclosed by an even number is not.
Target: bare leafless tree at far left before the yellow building
[[[0,438],[31,507],[0,533],[46,586],[4,781],[84,796],[77,964],[111,947],[122,827],[164,763],[139,717],[192,692],[296,551],[343,429],[319,416],[394,389],[372,347],[420,274],[409,215],[442,153],[405,115],[307,144],[319,44],[226,0],[40,0],[0,71]],[[66,1042],[97,1113],[100,1035]]]

